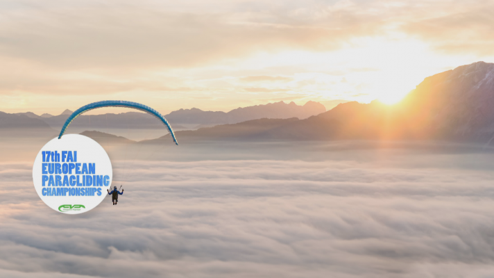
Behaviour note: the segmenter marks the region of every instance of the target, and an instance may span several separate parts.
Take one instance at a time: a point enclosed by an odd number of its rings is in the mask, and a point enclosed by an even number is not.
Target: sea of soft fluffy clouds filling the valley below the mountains
[[[494,273],[493,154],[313,151],[114,161],[119,204],[80,215],[40,200],[32,162],[3,161],[0,277]]]

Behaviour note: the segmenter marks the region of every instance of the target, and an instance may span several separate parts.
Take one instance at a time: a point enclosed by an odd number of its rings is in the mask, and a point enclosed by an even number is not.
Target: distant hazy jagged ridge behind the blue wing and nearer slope
[[[323,104],[314,101],[308,101],[303,106],[299,106],[294,102],[285,104],[283,101],[280,101],[273,104],[237,108],[228,113],[221,111],[202,111],[198,108],[180,109],[164,115],[164,117],[170,122],[173,129],[180,130],[187,129],[187,127],[182,126],[182,124],[189,126],[213,126],[216,124],[235,124],[263,117],[276,119],[298,117],[300,119],[305,119],[325,111],[326,108]],[[17,123],[17,126],[21,126],[26,121],[25,118],[29,117],[38,120],[31,121],[31,124],[35,124],[35,122],[41,120],[51,126],[51,128],[59,130],[71,113],[72,111],[69,110],[65,110],[62,114],[56,116],[49,114],[39,116],[31,112],[16,113],[10,114],[11,116],[8,121],[10,125],[16,126],[16,118],[12,115],[22,116],[19,118],[19,121],[21,122]],[[1,117],[2,115],[0,115],[0,124],[2,121]],[[70,125],[70,128],[72,129],[107,129],[108,127],[111,127],[112,129],[162,129],[163,125],[152,115],[138,112],[80,115]]]

